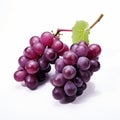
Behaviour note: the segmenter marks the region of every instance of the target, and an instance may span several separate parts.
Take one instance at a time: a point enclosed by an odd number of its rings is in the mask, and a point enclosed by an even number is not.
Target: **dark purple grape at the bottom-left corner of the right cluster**
[[[52,91],[52,95],[56,100],[61,100],[65,96],[63,88],[55,87]]]

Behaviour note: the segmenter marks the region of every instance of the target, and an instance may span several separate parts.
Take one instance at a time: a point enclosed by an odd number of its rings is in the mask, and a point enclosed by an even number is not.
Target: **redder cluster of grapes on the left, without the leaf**
[[[23,55],[18,59],[19,67],[14,73],[18,82],[25,82],[25,86],[33,90],[43,82],[51,65],[56,59],[68,51],[68,46],[59,40],[58,35],[44,32],[40,37],[31,37],[30,46],[24,49]]]

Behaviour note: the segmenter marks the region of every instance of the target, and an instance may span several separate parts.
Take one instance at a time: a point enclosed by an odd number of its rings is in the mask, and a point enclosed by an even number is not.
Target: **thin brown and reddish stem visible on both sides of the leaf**
[[[92,29],[103,17],[103,14],[100,14],[100,16],[97,18],[97,20],[89,27],[89,29]],[[60,32],[72,32],[72,29],[57,29],[57,32],[54,34],[54,36],[57,36],[60,34]]]

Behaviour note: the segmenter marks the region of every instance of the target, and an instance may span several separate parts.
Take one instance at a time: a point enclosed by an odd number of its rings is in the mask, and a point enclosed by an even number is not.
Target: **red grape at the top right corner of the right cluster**
[[[101,53],[101,47],[97,44],[89,45],[88,58],[94,59],[98,57]]]

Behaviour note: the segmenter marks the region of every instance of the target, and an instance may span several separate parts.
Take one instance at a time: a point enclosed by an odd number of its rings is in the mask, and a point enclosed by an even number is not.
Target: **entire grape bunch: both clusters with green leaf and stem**
[[[30,45],[18,59],[19,67],[14,79],[34,90],[45,82],[51,64],[55,64],[55,74],[50,78],[54,86],[53,97],[62,103],[74,101],[87,88],[93,73],[100,69],[101,47],[89,44],[89,34],[102,17],[103,14],[91,26],[80,20],[72,29],[58,29],[56,34],[46,31],[40,37],[31,37]],[[60,41],[62,31],[72,32],[70,49]]]

